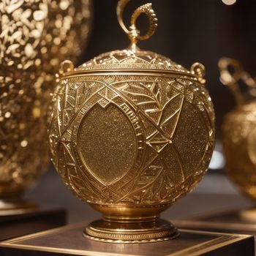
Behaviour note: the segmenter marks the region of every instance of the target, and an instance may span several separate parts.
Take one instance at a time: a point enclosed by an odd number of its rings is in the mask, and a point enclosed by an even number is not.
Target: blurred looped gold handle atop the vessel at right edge
[[[228,86],[233,92],[237,105],[244,103],[244,97],[238,85],[238,81],[242,80],[250,90],[256,89],[256,82],[247,72],[244,71],[241,63],[236,59],[222,58],[218,62],[220,81]],[[230,71],[232,69],[232,72]]]

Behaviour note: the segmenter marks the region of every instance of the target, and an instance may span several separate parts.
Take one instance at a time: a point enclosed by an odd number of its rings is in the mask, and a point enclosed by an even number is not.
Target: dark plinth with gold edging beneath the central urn
[[[0,255],[254,255],[252,236],[180,230],[176,239],[148,244],[109,244],[83,238],[87,223],[69,225],[0,243]]]

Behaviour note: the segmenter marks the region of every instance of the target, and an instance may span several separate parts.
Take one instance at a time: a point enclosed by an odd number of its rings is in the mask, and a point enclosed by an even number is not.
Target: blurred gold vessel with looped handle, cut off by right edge
[[[241,191],[256,200],[256,82],[234,59],[220,59],[219,70],[221,82],[236,99],[236,108],[222,124],[226,170]],[[246,86],[244,93],[239,82]]]

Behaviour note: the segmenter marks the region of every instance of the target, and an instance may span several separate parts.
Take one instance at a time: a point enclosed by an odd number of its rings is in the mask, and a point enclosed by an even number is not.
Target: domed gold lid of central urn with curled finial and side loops
[[[72,72],[72,75],[75,75],[74,73],[106,71],[168,72],[175,73],[176,75],[181,75],[183,77],[184,75],[189,76],[198,80],[200,83],[205,83],[205,68],[203,67],[203,64],[195,63],[192,65],[191,69],[188,70],[165,56],[149,50],[140,50],[140,48],[138,48],[138,41],[146,40],[154,34],[157,29],[157,17],[151,4],[144,4],[133,12],[130,21],[131,26],[127,29],[124,25],[122,15],[124,7],[129,1],[130,0],[118,1],[116,9],[118,22],[131,42],[129,48],[102,53],[94,59],[81,64],[77,68],[70,66],[66,62],[64,63],[64,68],[62,67],[62,73],[64,73],[64,75],[70,75],[70,72]],[[136,28],[136,20],[142,13],[147,15],[149,21],[148,31],[144,35],[141,35],[140,31]]]

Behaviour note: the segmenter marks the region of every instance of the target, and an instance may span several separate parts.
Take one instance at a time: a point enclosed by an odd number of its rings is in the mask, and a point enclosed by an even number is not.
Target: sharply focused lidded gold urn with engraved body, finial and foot
[[[157,28],[151,4],[139,7],[125,50],[103,53],[74,68],[64,61],[49,110],[56,170],[73,192],[103,215],[84,230],[95,241],[139,243],[178,236],[159,214],[206,173],[214,148],[214,108],[204,67],[188,71],[139,40]],[[149,19],[146,35],[135,26]]]

